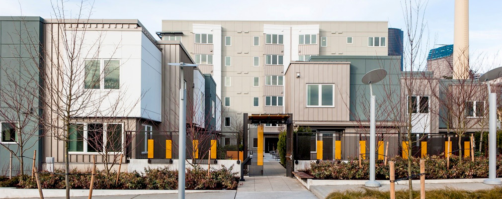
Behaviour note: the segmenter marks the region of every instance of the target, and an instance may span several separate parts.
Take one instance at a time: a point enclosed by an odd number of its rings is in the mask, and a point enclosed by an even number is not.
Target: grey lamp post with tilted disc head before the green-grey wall
[[[362,77],[362,83],[369,84],[369,92],[371,94],[369,104],[369,180],[364,183],[365,186],[379,187],[380,182],[375,181],[375,145],[376,145],[376,122],[375,122],[375,96],[371,84],[381,81],[387,75],[384,69],[374,69]]]

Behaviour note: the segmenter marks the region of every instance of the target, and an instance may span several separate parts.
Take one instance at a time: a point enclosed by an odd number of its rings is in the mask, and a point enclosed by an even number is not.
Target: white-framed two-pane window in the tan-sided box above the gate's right
[[[333,107],[334,84],[307,84],[307,107]]]

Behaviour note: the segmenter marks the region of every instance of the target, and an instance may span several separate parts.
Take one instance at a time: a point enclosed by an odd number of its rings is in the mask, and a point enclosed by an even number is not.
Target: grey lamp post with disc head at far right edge
[[[502,76],[502,67],[492,69],[479,78],[480,81],[485,81],[488,86],[488,179],[483,180],[485,184],[502,184],[502,181],[496,179],[496,108],[497,96],[491,92],[490,81]]]

